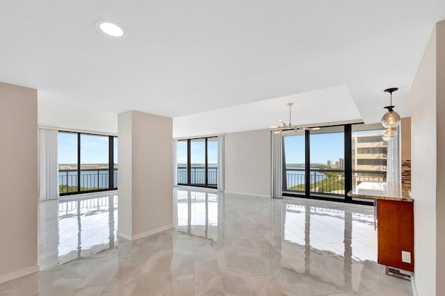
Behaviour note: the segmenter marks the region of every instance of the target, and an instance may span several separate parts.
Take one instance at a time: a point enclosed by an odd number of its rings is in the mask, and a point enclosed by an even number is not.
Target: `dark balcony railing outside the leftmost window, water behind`
[[[77,170],[58,170],[58,186],[60,193],[78,192]],[[108,169],[81,170],[80,191],[108,189]],[[118,188],[118,169],[113,172],[113,187]]]

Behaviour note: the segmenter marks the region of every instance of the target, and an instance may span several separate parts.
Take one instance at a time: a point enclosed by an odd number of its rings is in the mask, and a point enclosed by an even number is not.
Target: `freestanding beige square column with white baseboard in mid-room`
[[[134,239],[172,227],[172,118],[129,111],[118,120],[118,228]]]

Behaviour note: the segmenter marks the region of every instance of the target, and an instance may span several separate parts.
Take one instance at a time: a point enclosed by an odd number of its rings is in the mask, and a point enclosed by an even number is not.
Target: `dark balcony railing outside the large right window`
[[[386,181],[387,172],[353,171],[353,189],[363,181]],[[345,175],[341,170],[311,170],[310,191],[316,193],[345,193]],[[305,169],[286,168],[286,183],[283,189],[287,191],[305,192]]]

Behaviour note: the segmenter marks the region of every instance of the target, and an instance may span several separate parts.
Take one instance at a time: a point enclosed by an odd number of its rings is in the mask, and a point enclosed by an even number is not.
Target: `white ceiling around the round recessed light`
[[[123,24],[128,37],[106,38],[97,19]],[[437,0],[2,0],[0,81],[37,88],[44,101],[175,122],[335,87],[346,97],[316,96],[299,110],[309,118],[337,106],[341,120],[377,122],[389,87],[401,88],[396,111],[410,115],[411,83],[441,19]],[[234,109],[246,113],[232,124],[269,126],[271,109],[261,106]]]

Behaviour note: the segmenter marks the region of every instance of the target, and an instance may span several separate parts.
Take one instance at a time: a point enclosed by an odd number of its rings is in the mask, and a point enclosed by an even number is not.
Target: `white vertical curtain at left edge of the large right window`
[[[281,133],[271,132],[272,139],[272,197],[282,198],[282,137]]]

